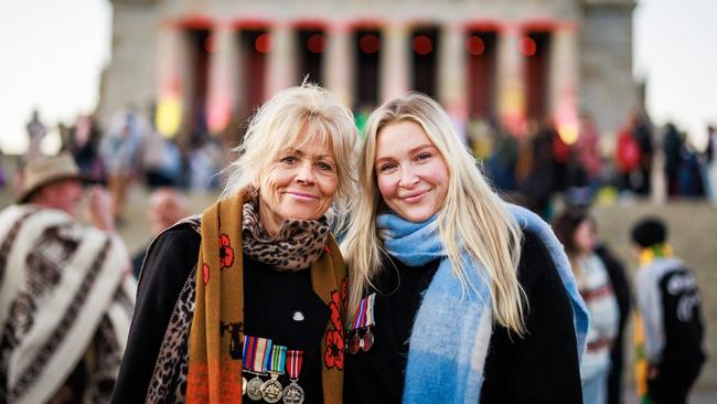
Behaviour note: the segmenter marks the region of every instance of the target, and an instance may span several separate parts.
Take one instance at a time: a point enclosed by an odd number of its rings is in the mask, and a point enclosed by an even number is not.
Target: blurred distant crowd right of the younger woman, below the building
[[[544,217],[550,201],[567,194],[595,199],[603,190],[618,198],[706,198],[717,205],[716,130],[697,151],[674,124],[656,129],[648,117],[631,114],[613,145],[601,138],[590,116],[580,119],[577,139],[566,142],[552,120],[529,123],[515,136],[490,123],[469,125],[468,138],[500,190],[515,194]],[[655,188],[656,182],[663,187]],[[663,190],[664,189],[664,190]]]

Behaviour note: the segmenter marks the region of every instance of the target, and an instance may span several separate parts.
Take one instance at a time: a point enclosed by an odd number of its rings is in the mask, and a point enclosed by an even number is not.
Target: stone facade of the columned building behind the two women
[[[588,113],[602,132],[614,132],[639,107],[632,78],[634,0],[114,0],[113,7],[113,56],[98,108],[103,121],[130,105],[171,105],[180,116],[174,129],[186,129],[196,119],[201,94],[208,128],[221,130],[237,110],[250,107],[243,105],[242,92],[254,77],[247,76],[236,38],[257,26],[271,34],[272,47],[263,62],[266,83],[255,104],[300,83],[297,38],[309,26],[325,38],[319,82],[354,106],[356,31],[371,29],[381,35],[379,103],[414,86],[411,77],[418,73],[411,40],[417,30],[429,28],[437,49],[429,73],[436,81],[431,95],[461,124],[474,118],[464,47],[474,31],[495,38],[490,104],[494,117],[518,132],[535,99],[558,126],[575,129],[578,114]],[[203,84],[193,76],[196,55],[188,47],[188,32],[196,30],[212,36]],[[548,55],[538,67],[526,67],[521,54],[529,32],[547,33]],[[546,73],[527,75],[528,68]],[[197,85],[203,89],[197,92]],[[542,93],[531,96],[535,88]]]

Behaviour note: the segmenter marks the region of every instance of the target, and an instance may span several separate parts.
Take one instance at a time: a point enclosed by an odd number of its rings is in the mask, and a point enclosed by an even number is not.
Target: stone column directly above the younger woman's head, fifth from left
[[[384,103],[408,92],[413,72],[408,62],[410,54],[408,28],[402,23],[390,23],[384,29],[382,36],[379,74],[381,102]]]

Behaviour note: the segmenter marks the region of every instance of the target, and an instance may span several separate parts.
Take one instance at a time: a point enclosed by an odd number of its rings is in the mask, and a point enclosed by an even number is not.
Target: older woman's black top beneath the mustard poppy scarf
[[[191,227],[179,226],[160,235],[150,248],[113,403],[145,402],[170,316],[196,265],[200,242]],[[304,403],[322,403],[321,341],[330,309],[313,291],[311,273],[277,272],[246,256],[243,259],[245,333],[303,350],[299,385]],[[245,373],[245,378],[254,375]],[[288,375],[279,376],[279,382],[287,386]]]

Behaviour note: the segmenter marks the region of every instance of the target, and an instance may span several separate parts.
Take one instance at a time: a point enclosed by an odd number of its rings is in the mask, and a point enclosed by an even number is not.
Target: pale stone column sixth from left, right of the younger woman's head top
[[[467,51],[463,28],[458,23],[443,26],[438,55],[438,98],[453,120],[459,135],[465,137],[468,123]]]

